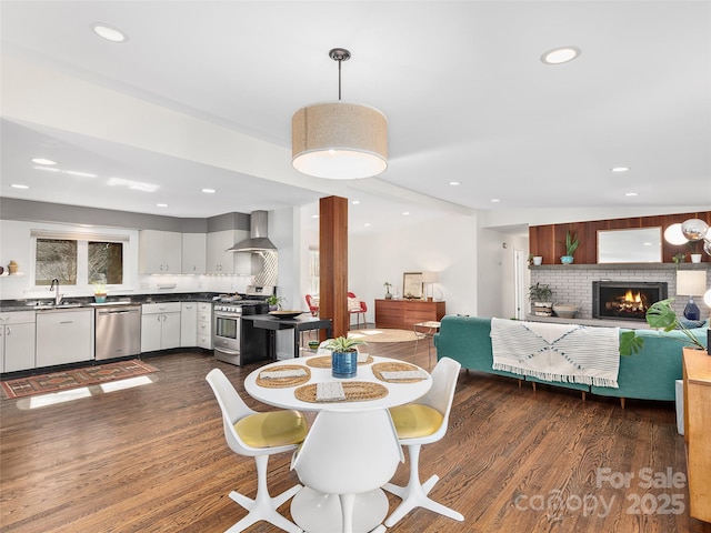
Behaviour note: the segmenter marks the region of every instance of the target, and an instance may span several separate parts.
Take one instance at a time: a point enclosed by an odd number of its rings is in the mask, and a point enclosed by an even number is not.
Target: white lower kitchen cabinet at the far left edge
[[[34,311],[0,313],[0,372],[34,368]]]

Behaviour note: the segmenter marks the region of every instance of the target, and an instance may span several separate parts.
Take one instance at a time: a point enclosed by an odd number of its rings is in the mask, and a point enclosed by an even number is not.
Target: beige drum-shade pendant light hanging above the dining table
[[[338,101],[307,105],[291,119],[291,164],[317,178],[351,180],[388,168],[388,119],[370,105],[341,101],[341,62],[351,53],[334,48]]]

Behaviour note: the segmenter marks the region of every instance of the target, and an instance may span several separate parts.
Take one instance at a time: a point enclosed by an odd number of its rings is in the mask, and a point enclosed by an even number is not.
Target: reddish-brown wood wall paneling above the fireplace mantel
[[[529,250],[533,255],[542,255],[543,264],[560,264],[560,258],[565,253],[565,232],[571,230],[580,239],[580,245],[574,253],[575,263],[597,264],[599,230],[661,227],[663,232],[671,224],[681,223],[689,219],[701,219],[711,225],[711,211],[532,225],[529,228]],[[675,247],[662,241],[662,261],[664,263],[671,263],[671,258],[677,253],[687,253],[687,261],[689,261],[690,250],[685,244]],[[703,254],[701,261],[709,261],[709,255]]]

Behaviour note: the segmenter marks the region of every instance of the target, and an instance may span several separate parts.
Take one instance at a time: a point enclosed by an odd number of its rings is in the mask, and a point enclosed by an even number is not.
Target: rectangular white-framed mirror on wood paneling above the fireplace
[[[662,229],[598,230],[598,263],[661,263]]]

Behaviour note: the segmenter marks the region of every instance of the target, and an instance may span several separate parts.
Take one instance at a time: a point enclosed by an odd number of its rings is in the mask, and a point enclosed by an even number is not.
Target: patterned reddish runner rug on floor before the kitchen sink
[[[133,359],[52,372],[50,374],[28,375],[27,378],[2,381],[0,385],[2,385],[6,398],[12,399],[67,391],[69,389],[150,374],[151,372],[158,372],[158,369]]]

